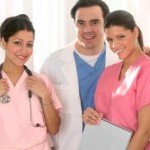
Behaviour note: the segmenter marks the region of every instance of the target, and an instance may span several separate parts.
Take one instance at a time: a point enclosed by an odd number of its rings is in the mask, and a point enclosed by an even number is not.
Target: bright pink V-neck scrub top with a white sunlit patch
[[[119,80],[122,62],[107,67],[95,92],[95,109],[111,122],[136,131],[138,111],[150,104],[150,59],[142,55]],[[148,144],[145,150],[150,150]]]

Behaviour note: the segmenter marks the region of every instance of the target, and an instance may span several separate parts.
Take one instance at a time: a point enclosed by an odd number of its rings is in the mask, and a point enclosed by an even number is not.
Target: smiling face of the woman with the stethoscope
[[[24,65],[33,52],[34,34],[21,30],[11,36],[8,42],[2,38],[2,46],[6,51],[5,61],[17,66]]]

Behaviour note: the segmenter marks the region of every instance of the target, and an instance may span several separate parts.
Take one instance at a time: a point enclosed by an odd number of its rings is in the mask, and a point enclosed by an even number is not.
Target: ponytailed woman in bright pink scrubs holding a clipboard
[[[97,124],[102,117],[133,131],[127,150],[150,150],[150,58],[143,53],[142,33],[123,10],[105,20],[106,40],[121,62],[105,69],[95,92],[95,110],[83,120]]]

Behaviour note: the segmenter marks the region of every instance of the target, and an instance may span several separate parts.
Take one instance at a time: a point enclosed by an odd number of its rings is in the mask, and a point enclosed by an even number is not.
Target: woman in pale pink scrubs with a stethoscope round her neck
[[[35,31],[28,16],[7,18],[0,27],[5,59],[0,65],[0,150],[50,150],[48,133],[59,130],[61,104],[52,83],[24,64]]]

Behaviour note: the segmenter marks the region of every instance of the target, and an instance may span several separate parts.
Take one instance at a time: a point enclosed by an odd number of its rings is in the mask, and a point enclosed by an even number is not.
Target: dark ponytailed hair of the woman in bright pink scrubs
[[[134,28],[137,26],[133,15],[125,10],[113,11],[105,18],[105,21],[104,21],[105,29],[109,28],[111,26],[114,26],[114,25],[122,26],[131,31],[133,31]],[[138,27],[138,29],[139,29],[138,42],[139,42],[141,49],[143,49],[143,46],[144,46],[143,35],[142,35],[142,32],[139,27]]]

